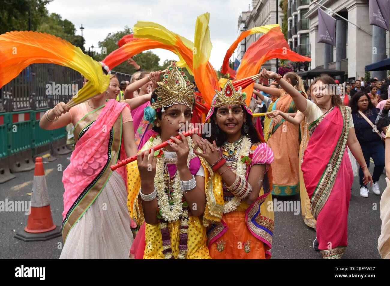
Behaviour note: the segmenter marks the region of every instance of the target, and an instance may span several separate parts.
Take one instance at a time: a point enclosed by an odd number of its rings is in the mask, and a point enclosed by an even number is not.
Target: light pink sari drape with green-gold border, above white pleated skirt
[[[64,242],[74,224],[83,216],[104,188],[112,174],[110,165],[126,158],[122,142],[121,112],[128,104],[109,100],[86,114],[74,126],[76,145],[70,164],[64,170],[64,212],[62,238]],[[125,167],[118,172],[127,185]]]

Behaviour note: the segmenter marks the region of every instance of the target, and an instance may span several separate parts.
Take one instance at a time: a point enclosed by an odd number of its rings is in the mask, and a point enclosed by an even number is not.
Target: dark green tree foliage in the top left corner
[[[45,6],[51,1],[0,0],[0,34],[11,31],[36,31],[48,14]]]

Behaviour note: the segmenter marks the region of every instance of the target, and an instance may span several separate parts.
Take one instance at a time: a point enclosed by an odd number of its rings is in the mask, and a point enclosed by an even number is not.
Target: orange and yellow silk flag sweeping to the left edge
[[[109,84],[109,75],[103,73],[101,64],[66,40],[32,31],[0,35],[0,88],[32,63],[55,63],[72,68],[88,79],[68,102],[68,107],[103,93]]]

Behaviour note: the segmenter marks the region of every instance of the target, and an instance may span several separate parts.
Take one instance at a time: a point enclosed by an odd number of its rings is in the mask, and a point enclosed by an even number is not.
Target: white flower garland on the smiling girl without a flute
[[[243,142],[241,143],[241,146],[239,147],[239,149],[237,150],[237,153],[236,153],[236,156],[238,154],[237,170],[236,170],[236,172],[234,172],[232,170],[236,175],[239,175],[239,177],[244,181],[245,181],[245,174],[246,174],[246,167],[247,166],[241,160],[241,156],[244,156],[244,157],[249,156],[249,150],[250,150],[251,146],[252,146],[252,142],[250,141],[250,139],[248,137],[244,136]],[[241,199],[234,196],[230,200],[230,202],[223,205],[223,213],[227,214],[229,212],[235,211],[240,204],[241,204]]]

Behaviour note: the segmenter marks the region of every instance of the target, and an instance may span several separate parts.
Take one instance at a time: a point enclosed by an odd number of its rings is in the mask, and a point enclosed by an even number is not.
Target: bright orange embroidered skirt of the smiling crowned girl
[[[227,231],[210,246],[213,259],[265,259],[264,244],[250,233],[245,211],[223,214]]]

